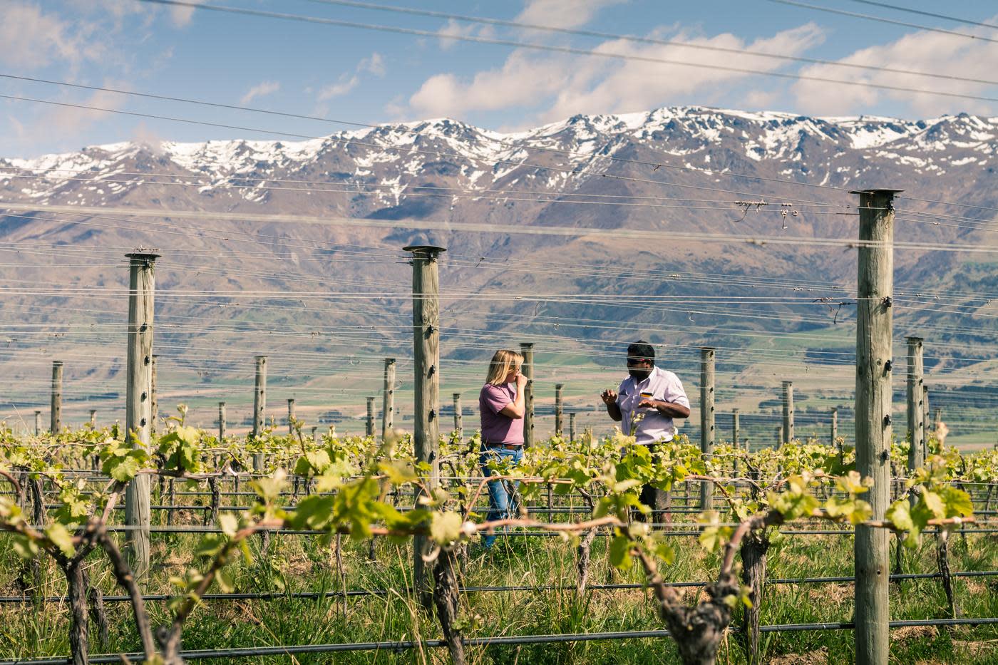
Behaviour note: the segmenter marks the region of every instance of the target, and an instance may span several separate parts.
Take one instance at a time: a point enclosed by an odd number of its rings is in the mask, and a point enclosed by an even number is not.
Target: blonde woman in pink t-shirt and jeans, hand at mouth
[[[524,387],[527,377],[520,373],[523,356],[516,351],[497,350],[489,363],[485,385],[478,395],[478,410],[482,416],[482,451],[479,463],[482,474],[494,475],[489,462],[505,461],[516,465],[523,459]],[[509,517],[510,495],[506,483],[492,480],[489,484],[488,519]],[[496,540],[495,533],[485,534],[485,548]]]

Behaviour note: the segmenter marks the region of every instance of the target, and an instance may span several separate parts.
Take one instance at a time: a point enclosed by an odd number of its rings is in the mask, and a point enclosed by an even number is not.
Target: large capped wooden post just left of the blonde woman
[[[414,376],[412,444],[417,462],[430,465],[429,485],[440,482],[440,276],[437,257],[443,248],[410,246],[412,253],[412,359]],[[433,595],[431,575],[423,561],[426,536],[417,534],[413,543],[413,588],[420,604],[430,609]]]

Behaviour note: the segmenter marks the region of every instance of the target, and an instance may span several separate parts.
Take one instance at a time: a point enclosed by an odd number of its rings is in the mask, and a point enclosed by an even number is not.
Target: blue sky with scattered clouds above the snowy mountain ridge
[[[836,16],[770,0],[383,0],[382,4],[998,79],[998,30],[854,0],[805,1],[996,41]],[[448,116],[503,131],[553,122],[575,113],[622,113],[667,105],[824,116],[924,118],[961,111],[998,115],[998,103],[988,101],[455,42],[444,35],[598,49],[998,98],[998,86],[987,83],[939,81],[606,38],[469,25],[317,0],[213,0],[209,4],[415,28],[440,36],[291,22],[137,0],[0,0],[0,73],[362,123]],[[998,8],[993,0],[945,5],[898,0],[890,4],[998,24]],[[0,79],[0,94],[248,128],[196,126],[0,99],[0,155],[6,157],[136,139],[279,139],[286,137],[276,132],[321,136],[345,129],[330,123],[9,79]]]

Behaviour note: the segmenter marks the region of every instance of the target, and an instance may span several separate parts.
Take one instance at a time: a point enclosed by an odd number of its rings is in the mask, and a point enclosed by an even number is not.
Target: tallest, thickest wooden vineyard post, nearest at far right
[[[856,470],[873,481],[863,498],[881,520],[890,499],[891,333],[896,190],[859,192],[856,286]],[[889,653],[887,530],[859,524],[855,535],[857,665],[886,665]]]

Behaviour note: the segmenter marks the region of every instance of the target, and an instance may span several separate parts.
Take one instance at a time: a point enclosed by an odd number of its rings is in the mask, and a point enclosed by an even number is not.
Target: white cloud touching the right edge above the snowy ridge
[[[994,22],[995,18],[990,21]],[[967,31],[989,37],[995,34],[986,28]],[[905,35],[889,44],[861,49],[838,62],[993,81],[995,63],[998,62],[998,44],[921,31]],[[987,94],[988,89],[993,87],[986,84],[944,81],[911,74],[871,72],[833,65],[811,65],[803,68],[800,73],[817,78],[874,83],[913,90],[993,96]],[[910,109],[909,113],[923,117],[960,111],[990,113],[998,108],[993,103],[957,97],[879,90],[820,81],[799,81],[793,85],[792,90],[802,111],[823,115],[862,112],[887,100],[894,104],[900,102]]]

